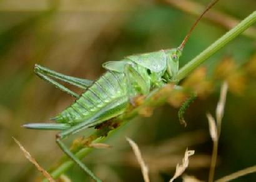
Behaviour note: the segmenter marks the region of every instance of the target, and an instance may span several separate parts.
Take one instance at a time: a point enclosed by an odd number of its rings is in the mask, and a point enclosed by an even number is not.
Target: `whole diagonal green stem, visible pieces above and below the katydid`
[[[214,42],[214,44],[210,45],[207,49],[205,49],[201,54],[199,54],[197,57],[195,57],[193,60],[191,60],[188,64],[186,64],[182,69],[180,69],[176,79],[181,80],[184,79],[192,70],[199,67],[202,62],[204,62],[206,59],[210,57],[210,55],[214,54],[217,50],[219,50],[221,47],[223,47],[225,44],[230,42],[232,39],[234,39],[236,36],[241,34],[245,29],[250,27],[254,22],[256,21],[256,11],[252,12],[250,16],[244,19],[244,21],[240,22],[234,29],[227,32],[224,36],[220,37],[219,40]],[[152,93],[150,95],[148,100],[145,100],[145,102],[140,105],[140,107],[134,108],[133,110],[130,110],[130,112],[124,113],[120,117],[117,117],[117,120],[120,120],[123,123],[125,121],[130,120],[131,118],[134,118],[138,115],[139,110],[143,107],[156,107],[158,105],[161,105],[162,103],[166,102],[166,99],[170,96],[170,90],[165,90],[162,92],[162,90],[158,90],[157,92]],[[120,127],[119,127],[120,128]],[[117,129],[119,129],[117,128]],[[117,130],[116,129],[116,130]],[[111,130],[110,134],[114,134],[116,130]],[[104,140],[103,136],[99,136],[94,142],[99,142]],[[92,148],[82,148],[81,150],[77,151],[76,156],[78,156],[79,159],[84,158],[90,151],[92,151]],[[51,171],[51,176],[54,179],[57,179],[62,173],[65,173],[69,168],[71,168],[74,165],[74,162],[66,159],[62,161],[57,168]]]

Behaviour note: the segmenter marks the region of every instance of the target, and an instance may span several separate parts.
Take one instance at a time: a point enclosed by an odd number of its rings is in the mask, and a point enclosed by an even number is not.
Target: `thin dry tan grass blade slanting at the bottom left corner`
[[[42,173],[42,175],[44,175],[44,177],[47,178],[47,180],[49,180],[50,182],[54,182],[55,180],[53,180],[52,176],[49,175],[49,173],[47,173],[46,170],[44,170],[44,168],[42,168],[36,160],[34,160],[34,158],[32,158],[32,156],[30,155],[30,153],[24,148],[24,146],[21,145],[21,143],[19,141],[16,140],[16,138],[12,137],[13,140],[17,143],[17,145],[19,145],[19,148],[21,148],[21,151],[24,153],[24,155],[26,156],[26,158],[31,161],[31,163],[33,163],[37,170],[40,171]]]

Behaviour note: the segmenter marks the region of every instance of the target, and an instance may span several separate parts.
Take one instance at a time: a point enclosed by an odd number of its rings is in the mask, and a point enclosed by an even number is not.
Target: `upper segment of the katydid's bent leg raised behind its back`
[[[41,65],[38,65],[38,64],[35,65],[34,71],[36,73],[41,72],[41,74],[48,75],[49,77],[53,77],[54,79],[61,80],[63,82],[74,85],[84,90],[86,90],[88,87],[90,87],[93,84],[92,80],[79,79],[77,77],[71,77],[68,75],[60,74],[54,70],[47,69],[46,67],[42,67]]]

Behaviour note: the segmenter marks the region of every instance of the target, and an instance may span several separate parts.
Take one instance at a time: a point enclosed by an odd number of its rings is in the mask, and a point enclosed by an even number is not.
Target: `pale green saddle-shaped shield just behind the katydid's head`
[[[164,50],[139,55],[129,55],[127,59],[150,69],[152,72],[162,72],[167,67],[167,58]]]

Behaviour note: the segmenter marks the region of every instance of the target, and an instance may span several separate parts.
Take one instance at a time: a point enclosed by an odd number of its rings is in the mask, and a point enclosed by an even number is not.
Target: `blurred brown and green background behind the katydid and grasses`
[[[193,2],[202,7],[209,3]],[[180,66],[234,26],[234,19],[240,21],[255,9],[255,0],[218,2],[211,12],[227,19],[209,13],[200,21],[185,46]],[[73,100],[36,77],[34,64],[95,80],[104,73],[103,62],[177,47],[197,13],[200,8],[179,0],[0,1],[0,181],[36,181],[40,175],[11,137],[21,141],[46,169],[62,155],[54,141],[56,132],[21,127],[28,122],[46,122]],[[204,64],[208,79],[215,77],[218,67],[223,74],[230,65],[234,76],[229,77],[215,179],[256,164],[255,40],[254,27]],[[221,62],[227,64],[221,67]],[[84,161],[104,181],[142,181],[127,136],[140,146],[152,181],[168,181],[187,147],[195,150],[195,155],[185,173],[207,180],[212,141],[205,113],[214,114],[221,82],[212,82],[211,92],[192,103],[185,114],[186,128],[178,121],[178,109],[165,105],[150,118],[137,117],[127,123],[107,140],[112,148],[95,150]],[[72,181],[88,180],[77,166],[67,176]],[[256,181],[256,175],[235,181]]]

